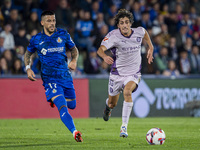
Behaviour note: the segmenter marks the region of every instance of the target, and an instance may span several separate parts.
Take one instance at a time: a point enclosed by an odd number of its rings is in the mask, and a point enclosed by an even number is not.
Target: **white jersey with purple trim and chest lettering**
[[[129,37],[123,36],[119,29],[112,30],[101,42],[101,45],[113,53],[112,74],[129,76],[140,73],[141,43],[145,29],[138,27],[131,30],[133,32]]]

